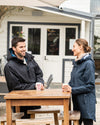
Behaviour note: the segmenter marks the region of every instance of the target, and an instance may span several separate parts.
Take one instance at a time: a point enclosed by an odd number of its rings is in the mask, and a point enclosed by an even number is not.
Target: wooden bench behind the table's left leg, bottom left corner
[[[20,119],[22,116],[24,116],[24,113],[23,112],[20,112],[20,113],[13,113],[12,114],[12,121],[13,121],[13,124],[12,125],[16,125],[16,119]],[[1,122],[1,125],[5,125],[5,122],[6,122],[6,114],[4,115],[0,115],[0,122]]]

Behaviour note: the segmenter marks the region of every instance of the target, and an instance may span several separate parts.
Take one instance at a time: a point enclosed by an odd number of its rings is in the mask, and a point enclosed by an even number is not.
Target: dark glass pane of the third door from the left
[[[59,29],[47,29],[47,55],[59,55]]]

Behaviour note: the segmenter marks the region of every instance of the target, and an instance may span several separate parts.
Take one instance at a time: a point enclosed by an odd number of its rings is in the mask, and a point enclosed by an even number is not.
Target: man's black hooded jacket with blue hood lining
[[[27,64],[24,64],[24,61],[18,59],[13,50],[9,49],[7,60],[4,72],[9,91],[32,90],[35,89],[36,82],[44,84],[43,73],[31,54],[26,53]]]

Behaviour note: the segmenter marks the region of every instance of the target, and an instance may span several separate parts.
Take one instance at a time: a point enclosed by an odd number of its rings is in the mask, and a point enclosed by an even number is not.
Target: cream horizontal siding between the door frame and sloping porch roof
[[[27,22],[53,22],[53,23],[79,23],[80,20],[75,18],[69,18],[61,15],[56,15],[52,13],[42,12],[41,16],[34,16],[34,13],[36,13],[36,10],[29,8],[24,8],[22,12],[16,10],[13,10],[11,12],[11,15],[9,17],[9,20],[15,20],[15,21],[27,21]],[[39,11],[38,11],[39,13]],[[41,13],[41,11],[40,11]]]

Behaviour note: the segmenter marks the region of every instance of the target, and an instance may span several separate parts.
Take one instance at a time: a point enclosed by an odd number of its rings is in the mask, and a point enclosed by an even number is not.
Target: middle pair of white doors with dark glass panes
[[[43,70],[44,80],[47,81],[50,74],[53,81],[62,79],[61,60],[61,26],[28,26],[27,50],[35,56],[36,62]]]

